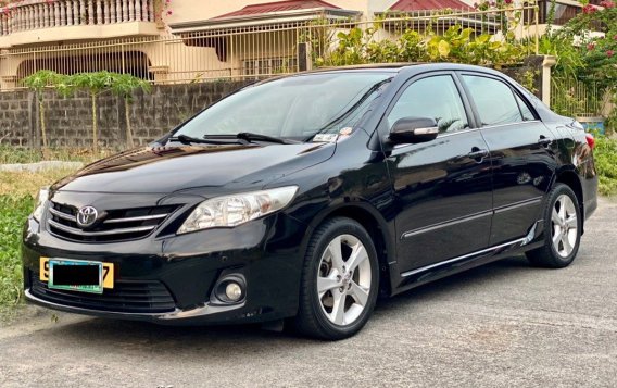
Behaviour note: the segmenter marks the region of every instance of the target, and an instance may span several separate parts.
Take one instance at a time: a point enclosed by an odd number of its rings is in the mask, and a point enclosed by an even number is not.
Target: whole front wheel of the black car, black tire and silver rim
[[[351,218],[330,218],[307,246],[295,329],[326,340],[349,338],[370,317],[378,291],[379,265],[369,234]]]

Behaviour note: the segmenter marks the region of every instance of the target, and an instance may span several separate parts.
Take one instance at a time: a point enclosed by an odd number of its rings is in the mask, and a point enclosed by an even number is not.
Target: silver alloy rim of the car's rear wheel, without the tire
[[[553,247],[559,256],[567,258],[575,249],[578,235],[577,211],[570,197],[566,195],[557,197],[551,221]]]

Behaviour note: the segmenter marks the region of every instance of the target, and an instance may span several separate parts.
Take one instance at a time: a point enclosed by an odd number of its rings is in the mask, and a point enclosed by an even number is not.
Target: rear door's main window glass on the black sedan
[[[501,80],[464,75],[463,79],[476,103],[482,125],[520,123],[522,115],[512,89]]]

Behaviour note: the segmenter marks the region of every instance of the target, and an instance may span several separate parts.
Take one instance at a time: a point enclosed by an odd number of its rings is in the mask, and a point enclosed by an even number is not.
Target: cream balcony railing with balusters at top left
[[[40,28],[155,22],[156,0],[26,0],[0,9],[0,36]]]

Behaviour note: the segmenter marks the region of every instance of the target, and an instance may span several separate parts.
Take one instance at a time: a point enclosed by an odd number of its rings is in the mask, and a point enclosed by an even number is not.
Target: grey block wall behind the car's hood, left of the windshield
[[[156,139],[203,108],[247,83],[202,83],[154,86],[151,93],[137,92],[129,105],[136,145]],[[51,147],[92,145],[91,99],[86,92],[61,98],[45,92],[47,137]],[[97,98],[99,145],[125,148],[127,126],[124,100],[110,93]],[[40,147],[39,108],[32,92],[0,93],[0,145]]]

